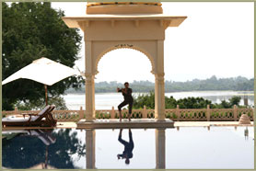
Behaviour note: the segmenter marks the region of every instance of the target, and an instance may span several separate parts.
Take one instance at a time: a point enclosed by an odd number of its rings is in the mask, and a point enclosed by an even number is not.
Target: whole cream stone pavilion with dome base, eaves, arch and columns
[[[151,73],[155,75],[155,119],[165,121],[165,30],[179,27],[186,18],[164,15],[161,3],[147,2],[89,3],[85,16],[63,17],[69,28],[84,32],[86,122],[95,120],[94,79],[99,60],[105,53],[119,48],[141,51],[149,59]]]

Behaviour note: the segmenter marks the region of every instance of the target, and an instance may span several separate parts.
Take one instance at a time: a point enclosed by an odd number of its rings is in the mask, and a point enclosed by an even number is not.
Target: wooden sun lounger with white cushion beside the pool
[[[56,125],[56,120],[52,118],[52,110],[55,108],[54,105],[46,106],[41,110],[39,114],[25,113],[24,118],[3,118],[2,126],[50,126]],[[25,118],[25,115],[29,117]]]

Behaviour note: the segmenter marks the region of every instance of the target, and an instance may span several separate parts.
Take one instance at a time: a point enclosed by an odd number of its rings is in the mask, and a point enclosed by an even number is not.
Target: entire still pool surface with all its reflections
[[[253,168],[253,127],[3,131],[5,168]],[[15,159],[15,160],[14,160]]]

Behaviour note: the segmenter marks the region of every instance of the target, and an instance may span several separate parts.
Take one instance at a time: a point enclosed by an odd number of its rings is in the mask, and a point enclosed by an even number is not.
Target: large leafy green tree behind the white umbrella
[[[3,3],[3,79],[41,57],[73,67],[78,57],[81,36],[62,20],[64,11],[50,3]],[[64,94],[68,87],[78,88],[81,77],[70,77],[49,87],[50,97]],[[44,99],[40,83],[19,79],[3,85],[3,109],[14,109],[17,101],[35,104]]]

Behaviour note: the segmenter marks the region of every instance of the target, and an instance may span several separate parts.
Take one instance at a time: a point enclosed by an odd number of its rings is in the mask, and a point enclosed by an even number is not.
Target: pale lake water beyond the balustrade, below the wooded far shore
[[[133,93],[134,96],[138,96],[139,93]],[[204,97],[209,99],[212,103],[220,103],[221,100],[228,100],[233,96],[241,97],[240,105],[244,104],[244,95],[248,96],[248,103],[250,106],[254,105],[254,96],[252,91],[193,91],[193,92],[175,92],[166,93],[167,97],[174,97],[176,99],[184,97]],[[84,94],[68,94],[64,96],[66,106],[69,109],[85,108],[86,97]],[[120,93],[99,93],[95,94],[95,108],[96,109],[111,109],[122,102],[123,97]]]

